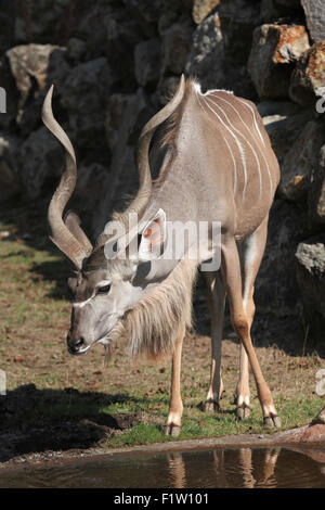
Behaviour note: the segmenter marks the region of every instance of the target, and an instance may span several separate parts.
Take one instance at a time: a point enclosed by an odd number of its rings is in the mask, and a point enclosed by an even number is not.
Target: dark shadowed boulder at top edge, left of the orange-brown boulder
[[[226,58],[246,65],[252,31],[260,25],[260,2],[220,0],[219,16]]]

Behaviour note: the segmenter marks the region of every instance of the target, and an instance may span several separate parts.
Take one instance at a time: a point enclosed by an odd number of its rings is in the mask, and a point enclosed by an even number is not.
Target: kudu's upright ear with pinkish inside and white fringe
[[[154,260],[162,255],[166,241],[166,214],[159,209],[140,232],[139,260]]]

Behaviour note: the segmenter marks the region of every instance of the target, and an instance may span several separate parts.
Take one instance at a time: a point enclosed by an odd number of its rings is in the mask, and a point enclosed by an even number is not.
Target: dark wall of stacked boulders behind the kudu
[[[282,169],[256,329],[270,341],[307,333],[322,341],[324,2],[0,0],[0,8],[1,202],[50,197],[61,173],[62,150],[40,116],[50,84],[78,156],[73,205],[93,235],[136,189],[136,138],[180,74],[197,76],[204,90],[232,89],[258,104]]]

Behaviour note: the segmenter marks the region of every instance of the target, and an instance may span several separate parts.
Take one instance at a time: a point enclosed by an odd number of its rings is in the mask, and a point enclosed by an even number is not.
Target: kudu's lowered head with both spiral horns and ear
[[[54,119],[52,113],[53,86],[43,104],[42,118],[46,126],[58,139],[66,150],[66,166],[60,184],[51,200],[48,213],[50,239],[73,263],[75,276],[68,285],[73,292],[73,311],[70,330],[67,335],[68,350],[75,355],[84,354],[95,343],[106,343],[109,333],[123,319],[125,315],[145,295],[145,292],[161,281],[164,275],[157,275],[153,281],[148,278],[147,260],[154,260],[160,254],[164,239],[164,211],[158,211],[153,218],[141,225],[135,222],[133,233],[129,234],[128,218],[143,216],[152,194],[152,177],[148,164],[148,151],[155,128],[164,123],[180,105],[185,90],[182,76],[172,100],[158,112],[143,128],[139,144],[136,164],[140,177],[139,192],[115,221],[106,225],[99,235],[94,247],[82,231],[79,218],[64,208],[70,199],[77,180],[77,165],[73,145]],[[125,226],[125,234],[112,235],[114,224]],[[110,233],[107,233],[110,231]],[[139,250],[131,256],[126,239],[135,240]],[[126,257],[109,257],[107,253],[119,252],[121,246]],[[126,250],[125,250],[126,248]]]

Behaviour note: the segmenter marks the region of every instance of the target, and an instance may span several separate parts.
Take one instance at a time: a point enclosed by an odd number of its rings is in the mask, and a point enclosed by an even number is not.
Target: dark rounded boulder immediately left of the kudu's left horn
[[[32,131],[20,150],[21,181],[27,199],[39,199],[43,186],[61,175],[63,165],[63,150],[53,135],[44,126]]]

